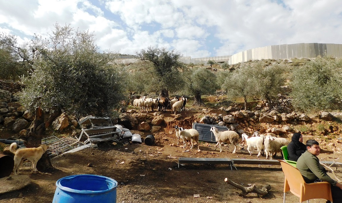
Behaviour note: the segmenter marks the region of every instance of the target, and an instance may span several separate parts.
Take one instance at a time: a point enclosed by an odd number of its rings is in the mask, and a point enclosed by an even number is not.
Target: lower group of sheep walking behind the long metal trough
[[[183,140],[183,148],[186,147],[186,142],[190,142],[190,149],[193,149],[194,143],[197,143],[197,150],[199,150],[198,146],[198,137],[199,133],[195,129],[183,129],[178,126],[175,126],[175,131],[176,131],[176,137],[178,139],[177,144],[179,144],[179,140]],[[236,145],[238,144],[238,140],[240,138],[239,134],[233,130],[226,130],[223,132],[219,132],[219,130],[215,127],[212,127],[210,129],[211,132],[214,133],[215,135],[215,140],[216,140],[216,145],[215,149],[220,146],[220,152],[222,152],[222,143],[227,143],[227,144],[233,144],[234,145],[234,151],[233,154],[236,153]],[[246,133],[242,134],[242,142],[246,140],[247,143],[247,150],[249,154],[252,156],[252,151],[253,148],[256,148],[258,150],[258,155],[259,157],[261,155],[261,151],[265,151],[266,154],[266,159],[271,159],[275,154],[278,152],[282,153],[280,147],[286,146],[290,143],[286,138],[282,137],[274,137],[272,135],[263,135],[259,134],[258,131],[255,131],[252,136],[248,136]]]

